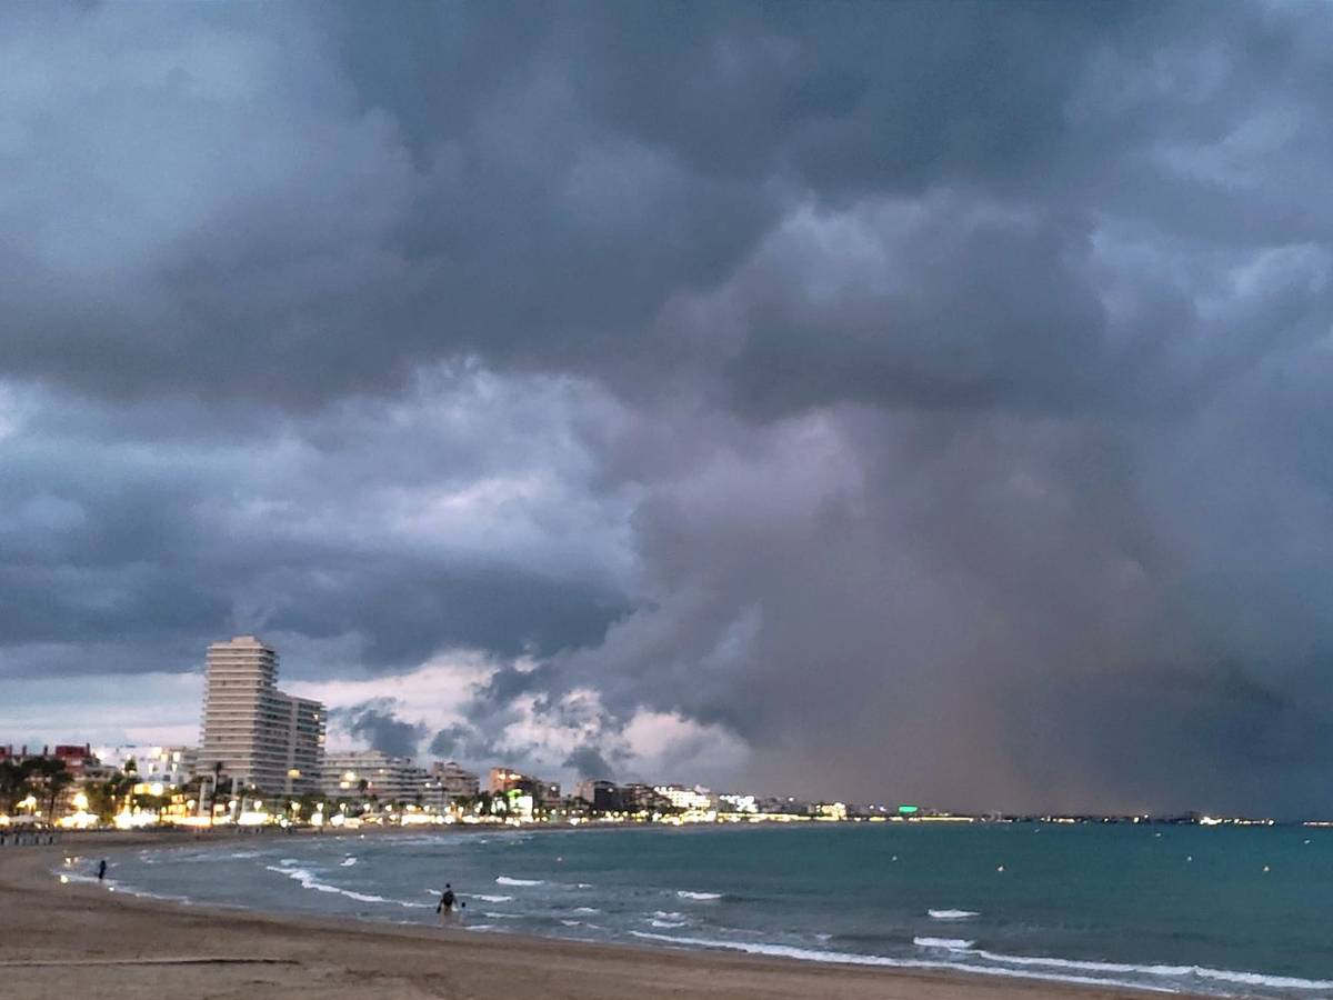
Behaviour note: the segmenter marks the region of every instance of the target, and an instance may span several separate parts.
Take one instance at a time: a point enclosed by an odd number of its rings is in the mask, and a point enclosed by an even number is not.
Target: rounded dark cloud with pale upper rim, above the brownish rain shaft
[[[1086,411],[1116,391],[1085,232],[976,205],[868,208],[778,233],[728,289],[738,401],[768,412]],[[850,232],[849,232],[850,229]],[[810,241],[854,236],[854,249]],[[1044,281],[1033,287],[1032,276]]]

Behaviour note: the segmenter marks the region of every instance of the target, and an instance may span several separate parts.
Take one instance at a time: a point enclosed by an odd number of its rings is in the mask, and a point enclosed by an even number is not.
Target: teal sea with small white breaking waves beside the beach
[[[425,925],[451,883],[472,933],[1333,997],[1333,829],[885,823],[263,835],[113,857],[108,879],[120,892],[181,903]]]

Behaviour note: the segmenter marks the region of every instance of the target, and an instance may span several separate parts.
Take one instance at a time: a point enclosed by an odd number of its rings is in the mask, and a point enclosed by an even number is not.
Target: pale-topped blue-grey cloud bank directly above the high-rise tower
[[[35,395],[28,425],[0,444],[0,639],[60,636],[83,672],[107,668],[87,651],[113,640],[144,640],[141,657],[115,661],[151,671],[197,663],[225,629],[357,639],[340,661],[289,660],[296,676],[411,667],[441,648],[519,656],[596,641],[628,609],[609,533],[591,523],[615,519],[619,501],[568,504],[584,473],[580,445],[549,423],[564,396],[508,392],[447,380],[437,411],[408,403],[391,427],[383,407],[329,415],[287,445],[207,428],[164,441],[115,427],[107,407],[72,431],[45,416],[63,397]],[[533,408],[545,428],[531,427]],[[483,427],[519,451],[484,453]],[[544,537],[567,529],[579,540]],[[188,637],[184,659],[163,641]],[[0,669],[11,664],[24,659]]]

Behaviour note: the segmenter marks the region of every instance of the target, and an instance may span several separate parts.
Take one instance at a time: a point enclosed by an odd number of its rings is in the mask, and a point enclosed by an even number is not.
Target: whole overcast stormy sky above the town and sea
[[[0,8],[0,743],[1333,812],[1321,4]]]

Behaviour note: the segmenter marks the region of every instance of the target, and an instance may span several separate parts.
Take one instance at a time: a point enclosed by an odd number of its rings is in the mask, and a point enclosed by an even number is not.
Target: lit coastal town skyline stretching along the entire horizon
[[[91,740],[69,737],[63,741],[33,740],[31,745],[27,741],[7,744],[0,739],[0,763],[67,761],[71,775],[76,777],[72,784],[65,785],[61,795],[67,801],[57,809],[67,816],[75,812],[71,803],[80,793],[81,781],[87,780],[83,776],[85,765],[99,776],[97,780],[103,780],[105,775],[113,775],[128,764],[143,791],[147,792],[152,785],[155,795],[175,795],[179,801],[172,821],[177,823],[181,816],[200,816],[204,811],[201,796],[192,799],[188,808],[184,805],[188,789],[197,789],[201,783],[208,781],[216,785],[219,779],[225,779],[225,797],[231,797],[235,807],[233,815],[224,816],[223,820],[232,823],[240,815],[247,796],[280,801],[293,796],[319,796],[331,800],[369,799],[400,805],[416,803],[428,812],[444,816],[451,808],[456,812],[460,801],[471,801],[483,789],[487,795],[523,791],[527,799],[521,815],[529,821],[535,819],[535,807],[553,808],[564,821],[560,809],[575,799],[581,799],[585,808],[596,805],[599,813],[619,811],[624,803],[633,803],[631,811],[641,817],[661,808],[665,811],[664,820],[680,821],[684,816],[690,823],[717,821],[721,816],[734,820],[774,815],[784,819],[800,816],[822,820],[1172,821],[1205,827],[1221,823],[1264,825],[1277,821],[1261,813],[1226,815],[1225,811],[1206,808],[1206,804],[1202,804],[1204,808],[1177,808],[1156,813],[1153,809],[1024,811],[1005,808],[1001,803],[992,803],[985,808],[977,808],[974,803],[937,804],[920,797],[912,803],[892,803],[872,801],[873,796],[794,796],[786,795],[788,789],[741,791],[734,785],[726,785],[728,791],[720,792],[694,780],[681,781],[680,775],[664,779],[661,775],[645,776],[641,772],[623,771],[617,776],[604,761],[593,761],[592,769],[588,767],[589,761],[580,761],[575,768],[565,761],[560,769],[547,767],[543,775],[537,775],[531,771],[529,761],[525,761],[528,771],[524,772],[508,763],[508,759],[503,763],[485,763],[465,757],[467,765],[477,768],[477,772],[472,772],[452,756],[445,760],[449,755],[436,752],[435,745],[423,748],[420,736],[413,740],[413,729],[392,715],[381,720],[391,723],[387,735],[373,725],[356,725],[356,717],[351,720],[351,725],[339,725],[336,709],[331,712],[323,703],[279,691],[279,651],[257,636],[241,635],[209,644],[205,663],[200,721],[193,743],[164,745],[109,741],[95,748]],[[236,693],[237,688],[241,689],[240,693]],[[407,711],[411,711],[409,707]],[[340,736],[332,744],[327,739],[331,727]],[[264,751],[265,743],[272,749]],[[263,757],[264,753],[268,757]],[[425,760],[419,763],[419,757],[435,760],[427,768]],[[267,759],[271,761],[263,763]],[[552,775],[560,780],[551,780]],[[631,797],[624,799],[627,795]],[[929,805],[922,805],[922,801]],[[268,819],[276,821],[279,815],[280,812]],[[144,823],[159,823],[167,821],[167,815],[145,812],[140,819]],[[1333,820],[1324,815],[1289,815],[1281,819],[1304,825],[1333,825]]]

